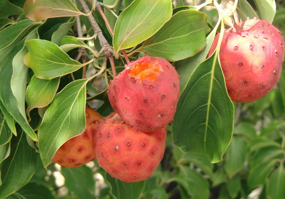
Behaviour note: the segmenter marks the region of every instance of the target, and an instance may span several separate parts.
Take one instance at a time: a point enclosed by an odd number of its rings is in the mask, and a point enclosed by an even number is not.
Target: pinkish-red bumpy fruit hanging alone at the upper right
[[[219,34],[209,50],[215,51]],[[284,38],[266,20],[248,19],[241,30],[225,29],[220,48],[221,67],[229,96],[236,102],[264,97],[278,82],[284,59]]]

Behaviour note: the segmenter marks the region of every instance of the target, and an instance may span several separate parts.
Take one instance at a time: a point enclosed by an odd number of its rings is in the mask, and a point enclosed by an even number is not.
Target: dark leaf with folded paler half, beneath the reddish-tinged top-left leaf
[[[67,35],[74,24],[75,17],[57,17],[47,19],[44,24],[38,27],[40,39],[48,40],[56,45],[60,44],[62,37]]]

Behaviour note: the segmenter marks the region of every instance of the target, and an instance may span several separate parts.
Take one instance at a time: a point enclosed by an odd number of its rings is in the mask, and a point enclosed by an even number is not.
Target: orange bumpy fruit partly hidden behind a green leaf
[[[93,108],[86,106],[85,131],[67,140],[54,154],[52,161],[62,167],[79,167],[95,159],[94,135],[103,118]]]

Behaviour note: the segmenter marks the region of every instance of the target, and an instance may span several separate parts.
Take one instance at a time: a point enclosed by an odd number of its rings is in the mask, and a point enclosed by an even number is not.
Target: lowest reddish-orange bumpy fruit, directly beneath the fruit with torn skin
[[[99,165],[125,182],[149,178],[159,165],[165,148],[166,129],[154,133],[137,131],[113,113],[101,121],[95,136]]]

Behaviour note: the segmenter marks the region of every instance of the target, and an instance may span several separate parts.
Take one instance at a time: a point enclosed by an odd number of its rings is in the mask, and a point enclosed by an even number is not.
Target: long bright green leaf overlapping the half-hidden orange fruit
[[[38,130],[38,147],[46,168],[56,150],[68,139],[81,134],[86,125],[86,83],[80,79],[57,93],[46,110]]]

